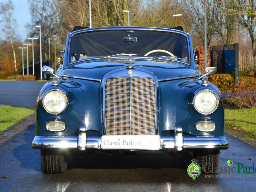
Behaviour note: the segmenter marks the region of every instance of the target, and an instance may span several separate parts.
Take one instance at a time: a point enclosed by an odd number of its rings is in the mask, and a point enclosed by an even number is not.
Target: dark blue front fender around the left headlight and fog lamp
[[[39,136],[67,136],[77,134],[79,126],[85,126],[85,102],[83,92],[78,85],[59,80],[58,86],[46,83],[40,90],[36,102],[36,134]],[[68,97],[66,109],[57,115],[47,113],[43,108],[43,95],[51,89],[62,89]],[[62,132],[49,132],[45,130],[45,122],[50,119],[62,119],[67,123],[67,129]]]

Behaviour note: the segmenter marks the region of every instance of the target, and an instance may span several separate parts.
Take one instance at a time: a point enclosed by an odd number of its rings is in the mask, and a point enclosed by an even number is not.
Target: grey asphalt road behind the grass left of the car
[[[37,95],[44,84],[37,81],[0,81],[0,104],[35,108]]]

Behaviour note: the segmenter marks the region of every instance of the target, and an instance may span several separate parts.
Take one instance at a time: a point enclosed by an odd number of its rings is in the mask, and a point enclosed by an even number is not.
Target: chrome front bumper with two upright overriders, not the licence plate
[[[79,152],[102,150],[102,136],[87,136],[86,132],[85,127],[80,127],[78,136],[35,136],[32,147],[34,149],[77,149]],[[182,127],[175,127],[174,136],[159,137],[158,150],[181,152],[183,149],[219,150],[228,148],[229,143],[226,137],[183,136]]]

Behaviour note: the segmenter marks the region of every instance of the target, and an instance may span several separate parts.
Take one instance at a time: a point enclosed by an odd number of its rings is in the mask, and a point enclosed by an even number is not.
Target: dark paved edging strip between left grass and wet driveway
[[[18,123],[10,126],[6,130],[3,130],[0,135],[0,145],[10,139],[12,136],[26,129],[27,126],[35,122],[35,113],[29,115],[28,117],[21,119]]]

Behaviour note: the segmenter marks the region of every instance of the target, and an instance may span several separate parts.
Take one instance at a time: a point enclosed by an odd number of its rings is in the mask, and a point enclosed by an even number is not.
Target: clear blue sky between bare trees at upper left
[[[0,2],[5,3],[7,2],[7,0],[0,0]],[[27,3],[27,0],[12,0],[12,2],[14,4],[13,17],[14,19],[16,19],[17,23],[16,33],[21,36],[22,41],[25,41],[27,38],[27,31],[25,25],[31,21],[29,5]],[[2,26],[2,23],[0,23],[1,29]],[[4,35],[1,32],[0,37],[3,39]]]

